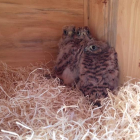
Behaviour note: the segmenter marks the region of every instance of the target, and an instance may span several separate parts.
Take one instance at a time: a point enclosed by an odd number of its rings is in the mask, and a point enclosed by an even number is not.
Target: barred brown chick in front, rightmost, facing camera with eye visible
[[[118,87],[117,52],[103,41],[89,40],[82,45],[77,85],[91,103],[101,106],[102,99],[108,96],[107,89]]]

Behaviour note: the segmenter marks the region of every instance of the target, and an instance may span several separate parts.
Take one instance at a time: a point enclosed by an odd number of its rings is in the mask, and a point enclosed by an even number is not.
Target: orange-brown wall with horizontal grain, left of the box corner
[[[65,25],[83,26],[83,0],[0,0],[0,61],[55,60]]]

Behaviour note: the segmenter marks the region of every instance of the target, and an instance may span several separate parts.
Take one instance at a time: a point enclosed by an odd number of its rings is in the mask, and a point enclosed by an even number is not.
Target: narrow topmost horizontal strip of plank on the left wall
[[[0,0],[0,5],[2,4],[6,4],[8,7],[16,5],[16,9],[20,7],[31,9],[32,7],[33,9],[41,11],[81,10],[81,12],[83,12],[82,0]],[[24,12],[28,13],[28,11]]]

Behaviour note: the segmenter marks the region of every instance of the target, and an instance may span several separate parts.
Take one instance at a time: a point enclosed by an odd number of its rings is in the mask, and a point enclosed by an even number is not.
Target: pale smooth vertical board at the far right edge
[[[140,78],[140,1],[119,1],[116,49],[120,82]]]

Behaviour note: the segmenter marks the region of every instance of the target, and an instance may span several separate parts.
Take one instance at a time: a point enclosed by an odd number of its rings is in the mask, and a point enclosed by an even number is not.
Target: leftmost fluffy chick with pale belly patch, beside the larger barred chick
[[[66,26],[59,42],[59,54],[54,68],[55,75],[67,86],[78,80],[78,53],[80,39],[75,38],[75,27]]]

